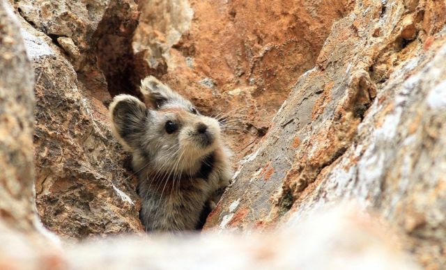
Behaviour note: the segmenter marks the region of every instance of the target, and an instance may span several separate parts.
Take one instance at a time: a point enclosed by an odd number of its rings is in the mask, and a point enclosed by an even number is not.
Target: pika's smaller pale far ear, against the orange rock
[[[176,93],[174,90],[162,84],[153,76],[148,76],[141,80],[141,93],[144,95],[146,102],[151,104],[154,109],[159,109],[165,104],[169,103],[180,103],[187,104],[187,102],[181,95]]]

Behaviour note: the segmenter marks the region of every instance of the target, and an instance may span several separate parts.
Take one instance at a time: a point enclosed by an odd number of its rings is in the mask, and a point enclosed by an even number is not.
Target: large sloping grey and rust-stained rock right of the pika
[[[356,1],[300,77],[208,227],[264,228],[356,200],[445,260],[445,3]]]

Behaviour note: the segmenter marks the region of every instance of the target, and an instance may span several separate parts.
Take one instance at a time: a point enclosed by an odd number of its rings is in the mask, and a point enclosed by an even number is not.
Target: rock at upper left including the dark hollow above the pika
[[[13,5],[26,22],[63,49],[93,95],[102,98],[107,84],[113,95],[132,88],[130,43],[139,17],[134,1],[17,0]]]

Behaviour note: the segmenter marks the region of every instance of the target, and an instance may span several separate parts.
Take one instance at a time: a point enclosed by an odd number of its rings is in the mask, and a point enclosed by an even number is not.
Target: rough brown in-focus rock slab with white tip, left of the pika
[[[86,92],[51,38],[22,25],[36,77],[33,141],[41,220],[64,237],[139,232],[136,179],[123,168],[127,156],[109,131],[107,109]]]

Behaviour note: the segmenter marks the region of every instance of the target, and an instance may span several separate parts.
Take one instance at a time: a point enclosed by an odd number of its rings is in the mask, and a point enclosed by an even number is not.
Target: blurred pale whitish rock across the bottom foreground
[[[13,269],[419,269],[401,253],[390,230],[343,208],[327,209],[274,233],[185,235],[175,242],[165,236],[150,241],[102,239],[61,251],[36,251],[23,237],[6,230],[0,240],[13,248],[0,245],[0,265]]]

